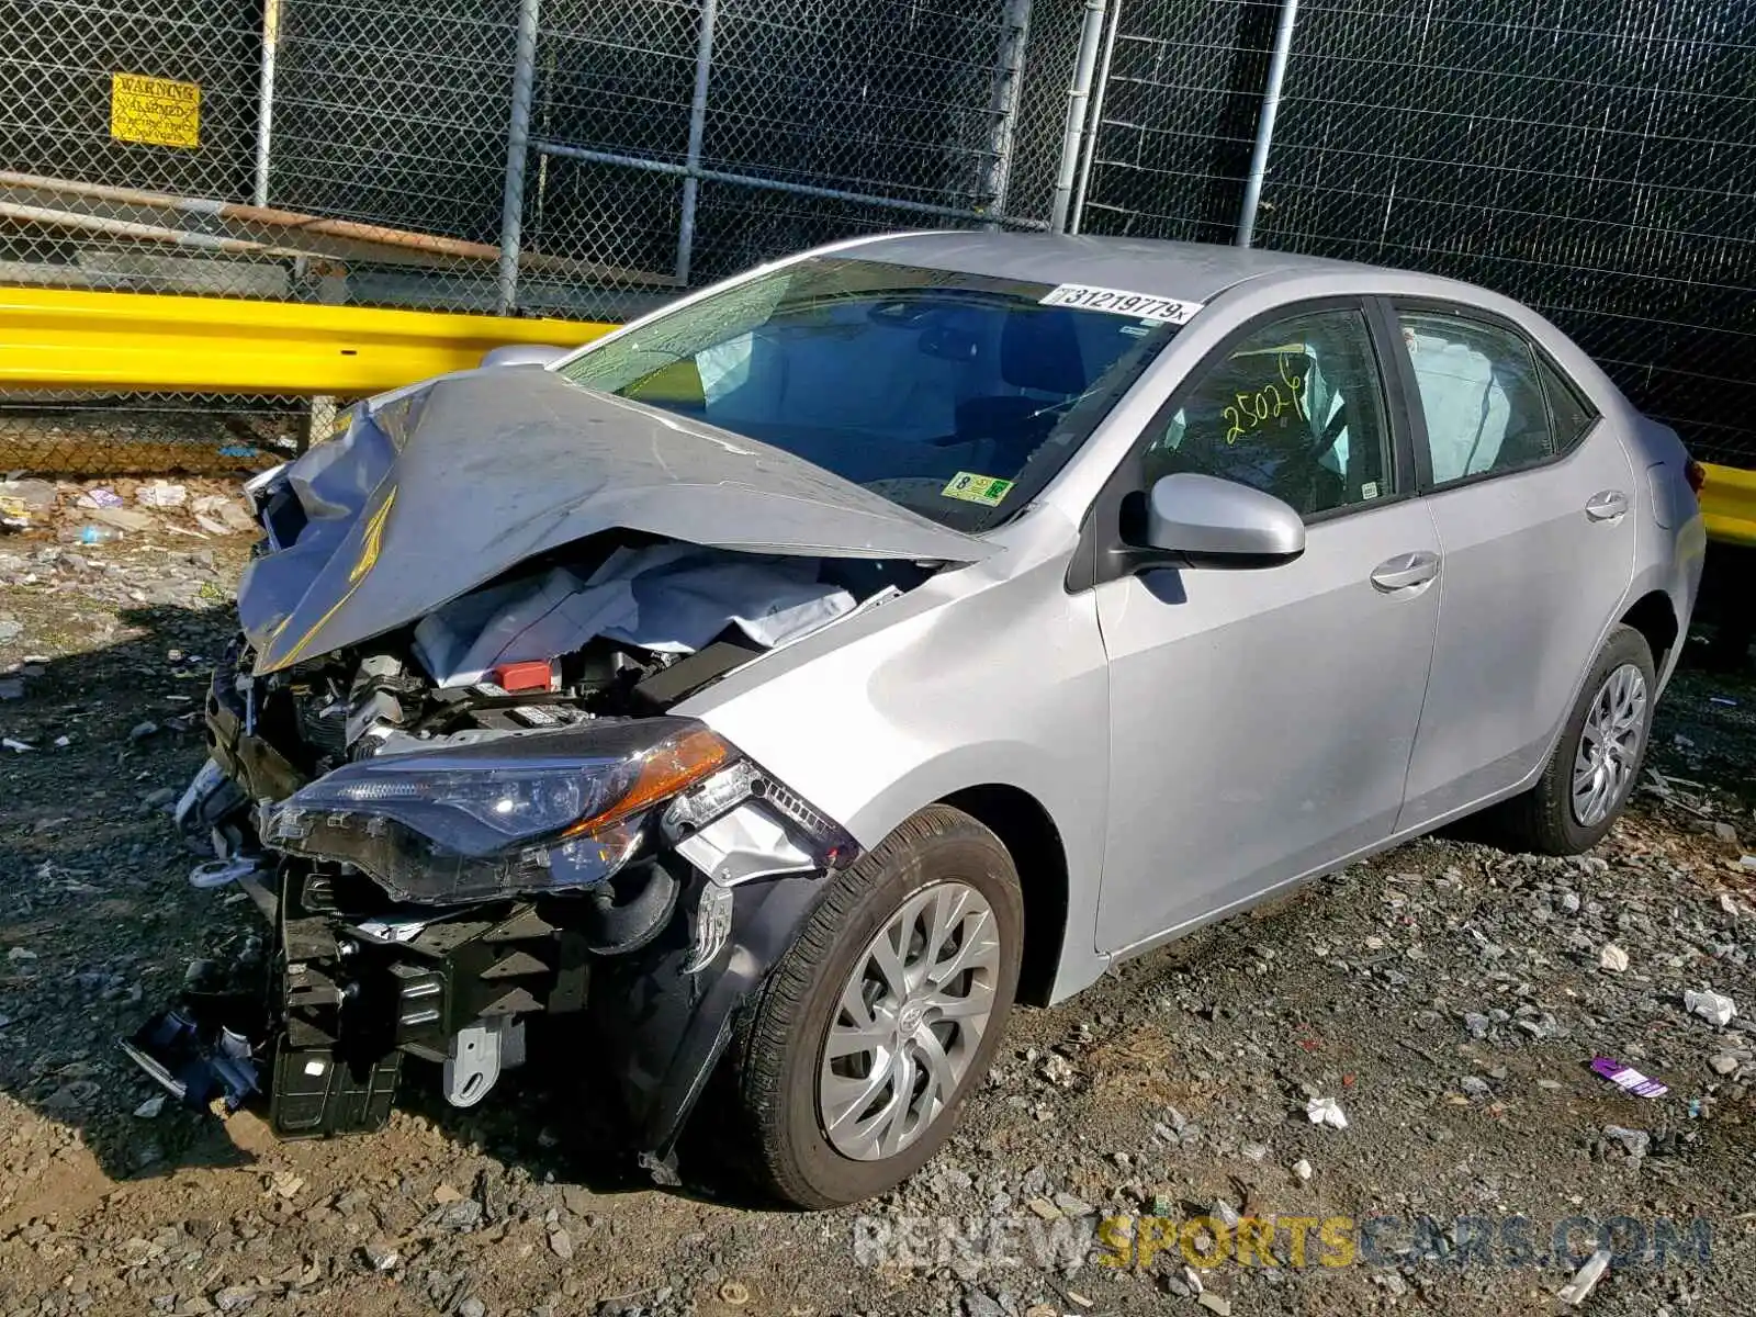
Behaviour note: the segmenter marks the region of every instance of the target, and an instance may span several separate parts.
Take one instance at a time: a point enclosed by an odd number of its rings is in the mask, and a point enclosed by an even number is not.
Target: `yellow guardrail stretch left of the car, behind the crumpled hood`
[[[362,395],[613,325],[223,297],[0,288],[0,388]]]

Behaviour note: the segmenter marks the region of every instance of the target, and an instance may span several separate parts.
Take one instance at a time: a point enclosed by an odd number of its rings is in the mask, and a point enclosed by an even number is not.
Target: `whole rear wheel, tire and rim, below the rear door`
[[[1640,778],[1656,692],[1645,637],[1633,627],[1616,627],[1542,778],[1503,806],[1508,843],[1579,855],[1603,839]]]

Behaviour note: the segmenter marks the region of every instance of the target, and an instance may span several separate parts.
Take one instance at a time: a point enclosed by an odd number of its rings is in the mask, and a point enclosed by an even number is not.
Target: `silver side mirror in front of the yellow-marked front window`
[[[1256,567],[1305,551],[1305,522],[1271,493],[1178,472],[1147,495],[1147,544],[1215,567]]]

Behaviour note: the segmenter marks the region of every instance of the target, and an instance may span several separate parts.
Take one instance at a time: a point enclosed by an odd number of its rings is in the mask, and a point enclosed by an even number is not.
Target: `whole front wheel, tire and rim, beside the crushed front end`
[[[755,1169],[806,1208],[901,1184],[987,1075],[1018,983],[1018,871],[948,806],[832,880],[734,1052]]]

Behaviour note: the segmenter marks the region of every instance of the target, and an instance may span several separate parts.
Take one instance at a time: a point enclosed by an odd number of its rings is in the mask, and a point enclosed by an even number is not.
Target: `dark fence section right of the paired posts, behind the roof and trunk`
[[[1122,0],[1087,232],[1231,241],[1278,4]],[[1256,242],[1494,288],[1756,465],[1756,9],[1303,0]]]

